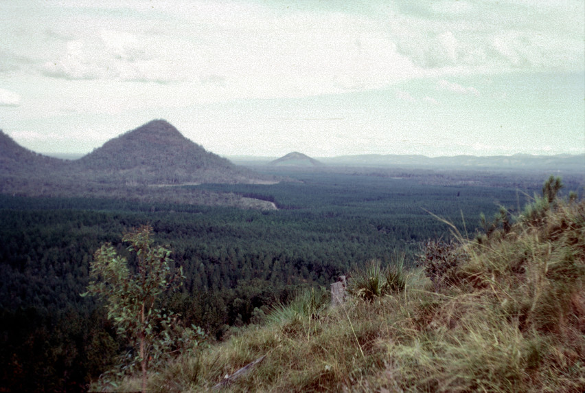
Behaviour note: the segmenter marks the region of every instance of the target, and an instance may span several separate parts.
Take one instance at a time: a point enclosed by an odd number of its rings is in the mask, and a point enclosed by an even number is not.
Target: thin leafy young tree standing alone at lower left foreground
[[[183,329],[177,335],[177,317],[159,308],[162,293],[181,286],[185,277],[179,267],[172,271],[171,251],[154,246],[152,227],[141,226],[126,232],[122,240],[130,243],[128,251],[137,256],[137,267],[130,271],[126,258],[117,255],[106,243],[95,251],[91,262],[91,281],[86,295],[98,295],[106,301],[108,319],[117,325],[117,333],[128,335],[137,348],[133,364],[139,364],[142,390],[146,390],[149,363],[163,357],[168,346],[196,344],[203,336],[200,328]]]

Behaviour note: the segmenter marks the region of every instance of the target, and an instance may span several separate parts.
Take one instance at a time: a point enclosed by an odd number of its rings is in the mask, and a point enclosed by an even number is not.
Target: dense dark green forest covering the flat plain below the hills
[[[258,322],[300,287],[328,287],[371,258],[406,260],[448,226],[474,234],[479,213],[511,212],[540,190],[442,186],[411,179],[287,172],[275,185],[185,186],[271,201],[279,210],[240,210],[115,199],[0,195],[0,390],[84,390],[126,350],[100,304],[80,297],[93,252],[148,223],[172,249],[185,285],[165,299],[210,339]],[[127,253],[126,253],[127,254]]]

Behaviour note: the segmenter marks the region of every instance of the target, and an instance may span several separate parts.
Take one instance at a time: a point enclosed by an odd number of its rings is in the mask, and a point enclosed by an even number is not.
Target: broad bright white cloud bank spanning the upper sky
[[[463,0],[290,8],[254,0],[104,0],[99,6],[60,0],[43,6],[9,16],[20,22],[5,29],[6,50],[34,58],[43,76],[181,85],[189,103],[348,93],[422,78],[575,71],[585,63],[582,0],[502,0],[490,7]],[[17,33],[25,38],[12,39]],[[455,92],[455,85],[439,88]]]

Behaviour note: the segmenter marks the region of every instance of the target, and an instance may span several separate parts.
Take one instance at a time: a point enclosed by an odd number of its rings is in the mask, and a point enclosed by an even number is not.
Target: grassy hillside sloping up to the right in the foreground
[[[225,390],[582,392],[585,201],[549,199],[489,234],[427,243],[417,269],[354,271],[342,306],[327,291],[299,294],[152,373],[149,391],[212,390],[265,355]]]

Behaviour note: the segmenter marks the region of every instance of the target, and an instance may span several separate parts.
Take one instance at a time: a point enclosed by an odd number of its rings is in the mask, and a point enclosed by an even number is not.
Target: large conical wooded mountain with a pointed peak
[[[107,183],[255,183],[261,175],[207,152],[165,120],[152,120],[106,142],[73,166]]]

